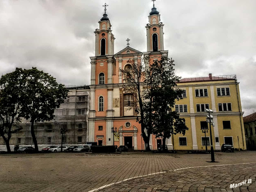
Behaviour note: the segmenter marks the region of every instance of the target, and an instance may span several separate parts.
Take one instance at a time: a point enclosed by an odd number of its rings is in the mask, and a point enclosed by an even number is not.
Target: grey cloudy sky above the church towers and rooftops
[[[0,73],[37,67],[65,85],[89,85],[106,0],[1,0]],[[151,0],[108,0],[115,53],[146,51]],[[256,111],[256,1],[157,0],[164,48],[182,77],[236,74],[245,115]]]

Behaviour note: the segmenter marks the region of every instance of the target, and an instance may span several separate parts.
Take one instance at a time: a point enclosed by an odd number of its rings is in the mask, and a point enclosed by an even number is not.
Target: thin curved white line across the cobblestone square
[[[122,181],[118,181],[118,182],[115,182],[115,183],[104,185],[102,187],[98,187],[96,189],[92,189],[92,190],[90,190],[88,192],[94,192],[94,191],[97,191],[97,190],[100,190],[100,189],[104,189],[105,187],[109,187],[109,186],[114,185],[114,184],[122,183],[123,181],[128,181],[128,180],[131,180],[131,179],[145,177],[145,176],[149,176],[149,175],[156,175],[156,174],[160,174],[160,173],[167,173],[167,172],[173,172],[173,171],[178,171],[178,170],[182,170],[182,169],[191,169],[191,168],[200,168],[200,167],[216,167],[216,166],[242,165],[242,164],[252,164],[252,163],[236,163],[236,164],[226,164],[226,165],[208,165],[208,166],[198,166],[198,167],[185,167],[185,168],[180,168],[180,169],[175,169],[175,170],[170,170],[170,171],[162,171],[162,172],[151,173],[151,174],[147,174],[147,175],[131,177],[131,178],[128,178],[128,179],[124,179]]]

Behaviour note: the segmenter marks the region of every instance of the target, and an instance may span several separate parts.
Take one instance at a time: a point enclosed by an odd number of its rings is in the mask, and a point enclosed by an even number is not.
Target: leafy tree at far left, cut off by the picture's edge
[[[4,139],[8,152],[11,152],[9,141],[12,134],[22,129],[19,126],[22,116],[22,83],[23,70],[20,68],[1,76],[0,79],[0,136]]]

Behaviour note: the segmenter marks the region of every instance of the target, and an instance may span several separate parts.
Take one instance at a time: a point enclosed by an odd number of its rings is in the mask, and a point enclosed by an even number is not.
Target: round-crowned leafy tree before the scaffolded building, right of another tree
[[[24,83],[22,85],[21,111],[25,119],[30,119],[31,136],[38,151],[34,123],[54,119],[54,110],[60,107],[67,97],[68,90],[58,84],[56,79],[39,71],[36,67],[23,70]]]

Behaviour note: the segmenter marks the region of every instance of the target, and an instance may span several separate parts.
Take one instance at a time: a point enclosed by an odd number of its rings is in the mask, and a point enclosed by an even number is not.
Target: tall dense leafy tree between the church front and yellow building
[[[156,137],[163,138],[163,145],[167,138],[171,135],[181,133],[185,135],[188,130],[185,119],[180,118],[179,114],[173,110],[175,101],[182,99],[182,90],[176,88],[176,82],[179,82],[180,77],[174,73],[174,60],[168,57],[162,57],[161,60],[156,60],[149,67],[149,74],[153,81],[157,82],[148,91],[152,101],[147,119],[151,119],[153,124],[152,134]],[[165,150],[165,147],[163,147]]]

